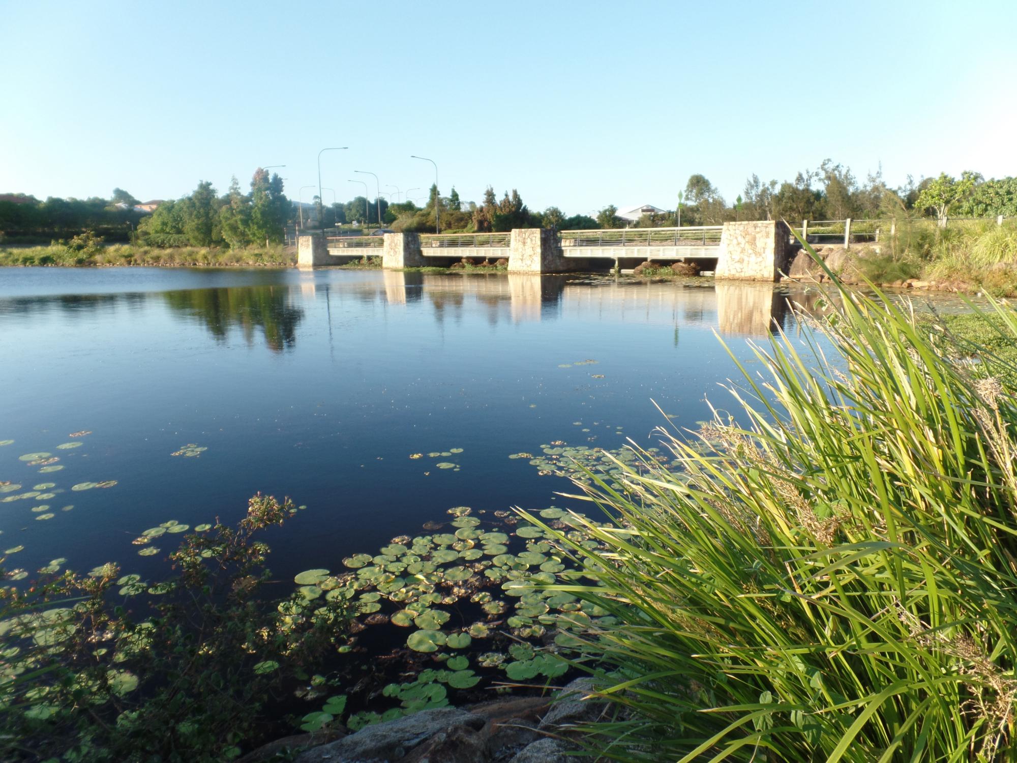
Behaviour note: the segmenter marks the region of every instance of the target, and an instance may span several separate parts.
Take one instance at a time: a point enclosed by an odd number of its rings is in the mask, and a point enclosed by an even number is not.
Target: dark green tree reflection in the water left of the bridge
[[[199,318],[218,341],[225,342],[230,329],[239,327],[247,344],[260,328],[265,346],[273,352],[293,347],[303,310],[285,303],[287,289],[278,286],[245,286],[223,289],[188,289],[163,294],[166,303],[179,312]]]

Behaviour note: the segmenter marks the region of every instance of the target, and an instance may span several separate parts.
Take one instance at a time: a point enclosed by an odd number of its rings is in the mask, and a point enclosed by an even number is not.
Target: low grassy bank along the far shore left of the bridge
[[[282,246],[226,249],[206,246],[157,248],[134,244],[91,246],[75,249],[51,244],[16,249],[0,248],[0,267],[62,266],[89,268],[100,266],[215,267],[268,266],[283,268],[296,263],[296,255]]]

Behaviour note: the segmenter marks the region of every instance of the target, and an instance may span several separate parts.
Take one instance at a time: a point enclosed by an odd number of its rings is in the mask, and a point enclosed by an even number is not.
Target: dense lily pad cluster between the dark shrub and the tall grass
[[[446,527],[428,523],[445,532],[397,537],[374,555],[344,559],[343,572],[311,569],[294,578],[307,606],[339,598],[351,604],[367,633],[372,627],[405,629],[405,658],[425,665],[415,681],[385,687],[383,696],[398,700],[398,707],[356,713],[347,721],[351,728],[442,707],[453,690],[552,681],[569,670],[561,652],[576,643],[554,637],[608,624],[607,612],[548,588],[581,577],[553,532],[512,524],[505,512],[490,520],[469,507],[448,514]],[[597,547],[577,515],[555,507],[539,515],[571,540]],[[362,634],[355,636],[353,648],[362,652],[357,644],[363,641]]]

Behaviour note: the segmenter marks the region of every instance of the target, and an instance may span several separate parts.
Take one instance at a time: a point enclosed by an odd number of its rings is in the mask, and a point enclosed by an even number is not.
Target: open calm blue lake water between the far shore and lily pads
[[[54,557],[154,575],[174,536],[139,556],[142,531],[234,522],[261,491],[307,507],[268,538],[289,580],[451,507],[569,506],[566,480],[508,455],[651,446],[653,401],[695,427],[738,377],[715,332],[746,359],[774,318],[793,332],[786,290],[705,283],[0,269],[0,483],[55,483],[0,503],[0,551],[23,546],[6,567],[32,575]],[[207,450],[172,455],[191,444]]]

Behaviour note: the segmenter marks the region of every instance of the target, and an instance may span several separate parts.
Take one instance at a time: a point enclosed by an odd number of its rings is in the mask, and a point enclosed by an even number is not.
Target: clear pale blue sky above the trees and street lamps
[[[341,199],[370,170],[479,200],[730,200],[826,158],[892,185],[1017,175],[1017,3],[16,2],[0,0],[0,192]],[[305,191],[305,200],[310,191]],[[323,193],[332,200],[328,191]]]

